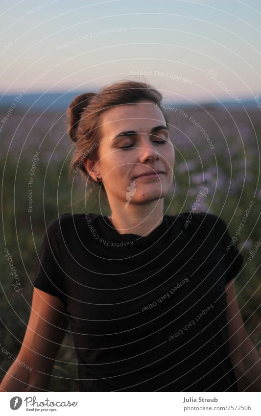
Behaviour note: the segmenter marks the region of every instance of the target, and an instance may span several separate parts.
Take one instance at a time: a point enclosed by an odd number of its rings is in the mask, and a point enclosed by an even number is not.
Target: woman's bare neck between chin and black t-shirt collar
[[[112,215],[108,217],[119,234],[148,236],[163,221],[164,199],[146,204],[120,204],[111,206]]]

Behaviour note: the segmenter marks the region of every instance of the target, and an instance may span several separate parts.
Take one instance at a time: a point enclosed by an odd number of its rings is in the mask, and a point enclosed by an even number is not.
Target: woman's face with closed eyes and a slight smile
[[[113,107],[102,117],[101,132],[91,175],[102,178],[109,202],[164,197],[173,181],[175,152],[161,109],[151,101]],[[140,176],[144,173],[150,175]]]

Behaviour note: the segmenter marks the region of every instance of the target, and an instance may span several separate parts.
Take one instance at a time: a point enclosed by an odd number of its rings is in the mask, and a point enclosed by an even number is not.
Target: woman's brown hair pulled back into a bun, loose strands
[[[106,192],[102,182],[96,182],[86,171],[85,158],[98,160],[98,144],[101,143],[101,126],[104,112],[111,107],[149,100],[160,105],[162,94],[146,82],[123,80],[107,85],[98,94],[84,93],[75,97],[68,107],[69,136],[74,145],[71,159],[71,172],[78,172],[88,178],[92,190],[99,189],[103,196]],[[166,113],[161,108],[166,124]]]

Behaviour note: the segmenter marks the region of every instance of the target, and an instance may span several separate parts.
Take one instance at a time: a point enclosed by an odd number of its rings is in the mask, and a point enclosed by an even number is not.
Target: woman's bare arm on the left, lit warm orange
[[[65,314],[65,307],[57,296],[34,288],[31,313],[17,356],[32,370],[14,362],[2,379],[0,392],[41,392],[48,389],[53,364],[68,324],[62,312]]]

